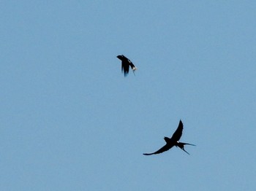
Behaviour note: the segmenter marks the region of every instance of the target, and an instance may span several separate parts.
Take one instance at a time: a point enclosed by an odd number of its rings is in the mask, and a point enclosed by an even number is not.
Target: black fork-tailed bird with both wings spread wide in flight
[[[184,150],[184,152],[187,152],[185,149],[184,149],[184,145],[185,144],[188,144],[188,143],[182,143],[182,142],[179,142],[178,140],[181,139],[181,135],[182,135],[182,130],[183,130],[183,123],[181,122],[181,120],[179,121],[179,124],[178,124],[178,128],[176,129],[176,131],[173,133],[173,136],[171,138],[168,138],[165,136],[165,146],[162,147],[161,149],[159,149],[157,152],[152,152],[152,153],[143,153],[143,155],[155,155],[155,154],[159,154],[159,153],[162,153],[162,152],[165,152],[167,150],[169,150],[170,148],[172,148],[173,146],[176,146],[176,147],[180,147],[182,150]],[[189,145],[192,145],[192,146],[195,146],[195,144],[189,144]],[[189,154],[187,152],[187,154]]]

